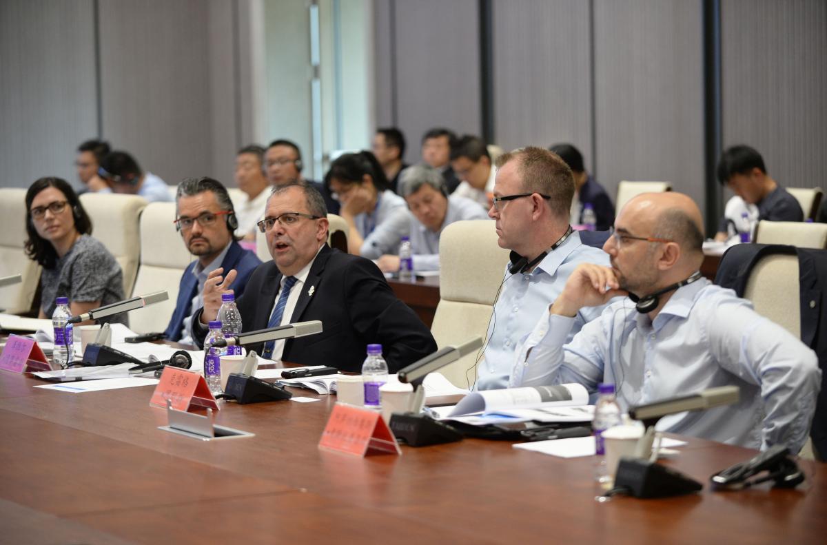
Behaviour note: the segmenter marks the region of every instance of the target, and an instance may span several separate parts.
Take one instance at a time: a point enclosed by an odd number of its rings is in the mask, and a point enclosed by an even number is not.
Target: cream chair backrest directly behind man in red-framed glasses
[[[138,333],[166,329],[175,309],[181,275],[193,261],[175,231],[175,203],[149,203],[141,213],[141,266],[135,280],[136,295],[165,289],[170,299],[129,313],[129,327]]]

